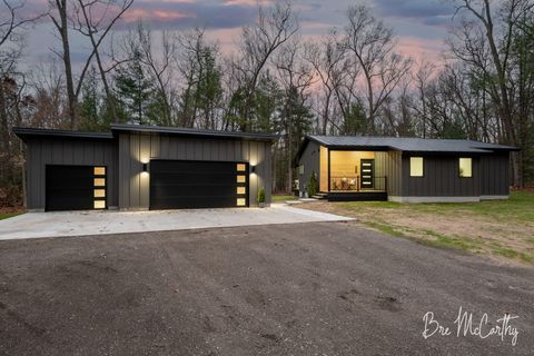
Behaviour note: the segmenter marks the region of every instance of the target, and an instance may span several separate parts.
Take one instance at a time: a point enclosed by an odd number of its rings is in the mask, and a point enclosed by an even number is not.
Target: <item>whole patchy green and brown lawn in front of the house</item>
[[[468,204],[352,201],[306,206],[345,214],[373,229],[421,244],[534,265],[532,191],[513,191],[508,200]]]

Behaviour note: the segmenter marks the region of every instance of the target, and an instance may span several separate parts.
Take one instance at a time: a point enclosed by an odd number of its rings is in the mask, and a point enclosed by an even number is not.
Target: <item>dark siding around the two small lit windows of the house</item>
[[[423,177],[409,176],[409,158],[423,157]],[[481,196],[479,157],[473,159],[471,178],[461,178],[458,159],[468,156],[403,154],[405,197],[478,197]]]

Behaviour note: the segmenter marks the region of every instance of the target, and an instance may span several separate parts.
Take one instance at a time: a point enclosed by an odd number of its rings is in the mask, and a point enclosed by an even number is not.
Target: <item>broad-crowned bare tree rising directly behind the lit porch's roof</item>
[[[376,132],[376,113],[411,68],[411,60],[395,53],[393,30],[365,6],[347,11],[346,47],[362,68],[370,134]]]

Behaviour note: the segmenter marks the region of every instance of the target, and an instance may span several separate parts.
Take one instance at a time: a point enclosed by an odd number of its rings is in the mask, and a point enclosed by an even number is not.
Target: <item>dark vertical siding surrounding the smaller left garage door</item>
[[[48,165],[106,166],[107,204],[118,206],[117,155],[112,140],[43,138],[27,142],[28,209],[46,208],[46,167]]]

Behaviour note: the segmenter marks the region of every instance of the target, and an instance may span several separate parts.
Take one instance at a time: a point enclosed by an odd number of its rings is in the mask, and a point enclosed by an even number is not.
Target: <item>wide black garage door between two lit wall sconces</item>
[[[245,206],[248,206],[248,164],[150,161],[150,209]]]

